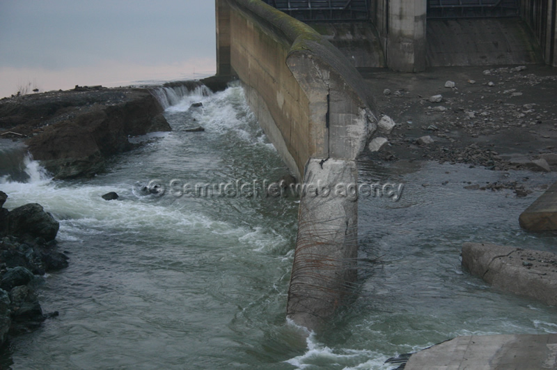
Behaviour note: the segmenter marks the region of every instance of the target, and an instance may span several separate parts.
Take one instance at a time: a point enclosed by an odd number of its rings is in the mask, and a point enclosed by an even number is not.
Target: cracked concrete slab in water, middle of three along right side
[[[557,254],[467,242],[462,266],[503,291],[557,305]]]

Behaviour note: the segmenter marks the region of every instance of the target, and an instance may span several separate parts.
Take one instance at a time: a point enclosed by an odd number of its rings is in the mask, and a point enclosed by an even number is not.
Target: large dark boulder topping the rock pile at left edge
[[[53,240],[60,224],[38,203],[17,207],[8,215],[8,233],[14,236],[29,235]]]

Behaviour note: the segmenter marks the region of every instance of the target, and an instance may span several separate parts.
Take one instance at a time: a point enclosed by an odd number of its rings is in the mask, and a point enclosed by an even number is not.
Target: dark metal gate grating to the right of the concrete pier
[[[517,0],[427,0],[428,18],[517,17]]]

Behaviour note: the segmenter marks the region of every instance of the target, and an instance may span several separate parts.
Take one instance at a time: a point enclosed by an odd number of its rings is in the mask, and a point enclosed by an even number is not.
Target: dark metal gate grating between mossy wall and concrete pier
[[[346,22],[369,19],[368,0],[263,0],[305,22]]]

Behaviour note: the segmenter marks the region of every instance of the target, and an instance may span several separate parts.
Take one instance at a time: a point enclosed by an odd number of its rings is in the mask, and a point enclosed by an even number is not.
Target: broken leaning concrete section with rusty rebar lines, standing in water
[[[304,173],[287,315],[315,331],[354,291],[356,162],[312,158]]]

